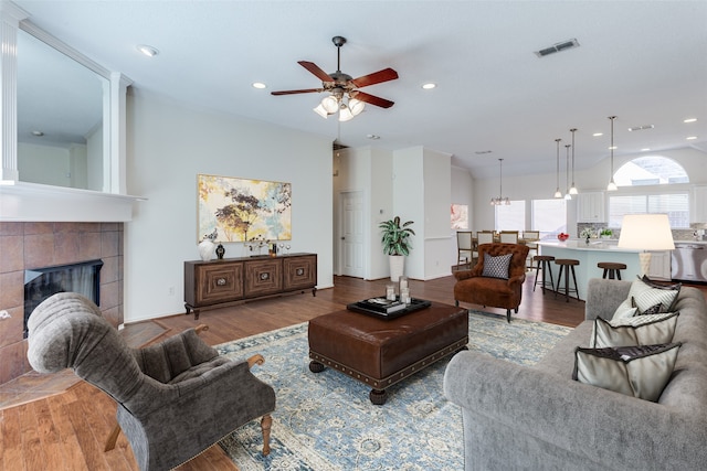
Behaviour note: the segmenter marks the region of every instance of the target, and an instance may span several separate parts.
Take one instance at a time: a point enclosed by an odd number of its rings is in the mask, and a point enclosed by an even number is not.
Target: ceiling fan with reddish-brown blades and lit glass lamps
[[[334,115],[335,113],[339,111],[339,121],[348,121],[349,119],[361,113],[363,110],[365,103],[379,106],[381,108],[390,108],[391,106],[393,106],[393,101],[363,93],[359,90],[359,88],[380,84],[382,82],[394,81],[395,78],[398,78],[398,73],[388,67],[383,68],[382,71],[373,72],[372,74],[352,78],[350,75],[342,73],[340,66],[341,46],[346,44],[346,38],[334,36],[331,38],[331,42],[337,49],[335,73],[327,74],[314,62],[298,62],[299,65],[305,67],[321,81],[321,88],[272,92],[272,95],[295,95],[329,92],[329,95],[326,96],[321,100],[321,103],[316,108],[314,108],[314,110],[323,118],[327,118],[327,116]],[[347,98],[347,103],[344,101],[344,98]]]

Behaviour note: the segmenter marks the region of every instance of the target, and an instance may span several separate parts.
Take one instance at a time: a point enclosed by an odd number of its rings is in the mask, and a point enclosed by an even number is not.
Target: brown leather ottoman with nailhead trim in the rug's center
[[[468,311],[433,302],[397,319],[337,311],[309,321],[309,370],[330,366],[372,387],[382,405],[386,388],[468,343]]]

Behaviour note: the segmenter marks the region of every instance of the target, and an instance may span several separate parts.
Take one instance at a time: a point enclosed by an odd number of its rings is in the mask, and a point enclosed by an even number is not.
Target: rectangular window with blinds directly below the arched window
[[[609,196],[609,227],[621,227],[624,214],[646,213],[667,214],[672,228],[688,228],[689,195],[675,192]]]

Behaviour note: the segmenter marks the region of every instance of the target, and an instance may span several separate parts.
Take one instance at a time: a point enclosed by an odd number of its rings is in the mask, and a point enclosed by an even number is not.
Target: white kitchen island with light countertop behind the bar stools
[[[584,239],[559,240],[541,240],[538,242],[540,255],[551,255],[555,258],[571,258],[579,260],[579,265],[574,267],[577,275],[578,297],[587,300],[587,285],[590,278],[601,278],[603,269],[597,264],[600,261],[613,261],[616,264],[625,264],[626,269],[622,270],[621,278],[624,280],[634,280],[641,274],[641,265],[639,263],[639,254],[641,250],[632,248],[616,247],[618,240],[590,239],[589,244]],[[557,276],[560,267],[550,263],[552,266],[552,277],[555,278],[557,289]],[[571,275],[570,275],[571,276]],[[562,281],[564,286],[564,281]],[[571,286],[571,278],[570,278]]]

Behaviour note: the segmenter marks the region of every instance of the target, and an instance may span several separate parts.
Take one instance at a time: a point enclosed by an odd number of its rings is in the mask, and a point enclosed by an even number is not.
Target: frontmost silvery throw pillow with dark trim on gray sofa
[[[680,343],[577,347],[572,379],[657,402],[671,379]]]

